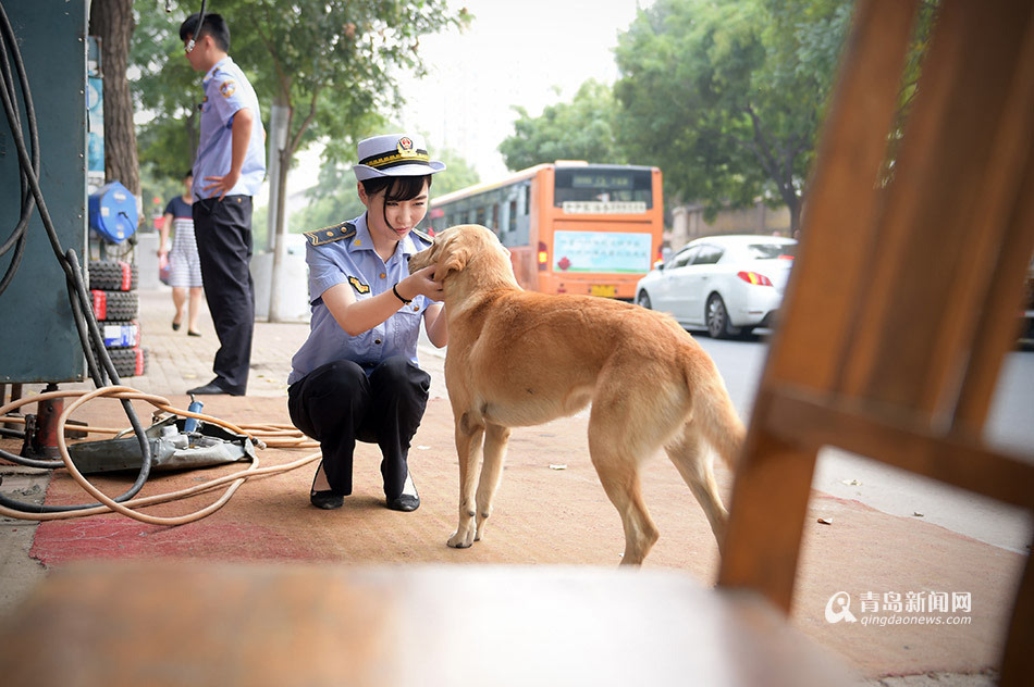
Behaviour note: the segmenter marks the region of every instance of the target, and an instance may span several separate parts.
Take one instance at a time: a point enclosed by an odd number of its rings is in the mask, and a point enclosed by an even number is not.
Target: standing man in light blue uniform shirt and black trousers
[[[219,14],[180,26],[186,58],[205,78],[201,135],[194,161],[194,232],[205,297],[219,350],[216,378],[188,394],[244,396],[251,362],[251,197],[266,177],[266,132],[255,89],[230,59],[230,27]],[[192,47],[193,46],[193,47]]]

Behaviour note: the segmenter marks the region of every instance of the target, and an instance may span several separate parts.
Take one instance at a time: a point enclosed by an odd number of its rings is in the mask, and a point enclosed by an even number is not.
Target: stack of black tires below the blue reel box
[[[136,264],[120,260],[91,260],[89,288],[94,315],[104,337],[104,348],[120,377],[135,377],[147,370],[140,348],[140,310]]]

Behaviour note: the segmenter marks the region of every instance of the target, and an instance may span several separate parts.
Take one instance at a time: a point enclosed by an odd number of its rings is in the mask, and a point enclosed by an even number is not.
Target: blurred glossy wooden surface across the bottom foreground
[[[664,571],[91,563],[2,620],[8,687],[854,684],[759,596]]]

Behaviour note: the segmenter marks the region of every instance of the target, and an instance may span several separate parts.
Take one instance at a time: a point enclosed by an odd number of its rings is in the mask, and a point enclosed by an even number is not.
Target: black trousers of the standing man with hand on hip
[[[255,330],[251,197],[196,200],[193,211],[205,299],[219,337],[212,363],[216,384],[231,394],[244,394]]]

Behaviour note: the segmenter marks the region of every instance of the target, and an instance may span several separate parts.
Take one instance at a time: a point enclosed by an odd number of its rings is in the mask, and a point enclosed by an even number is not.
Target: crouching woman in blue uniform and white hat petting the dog
[[[417,361],[420,323],[445,346],[442,285],[433,267],[409,274],[409,258],[430,246],[416,229],[428,210],[432,161],[419,136],[376,136],[358,145],[359,200],[352,222],[308,232],[309,337],[292,359],[287,409],[298,429],[320,442],[309,490],[317,508],[352,494],[356,441],[377,444],[387,508],[415,511],[409,442],[427,408],[431,377]]]

